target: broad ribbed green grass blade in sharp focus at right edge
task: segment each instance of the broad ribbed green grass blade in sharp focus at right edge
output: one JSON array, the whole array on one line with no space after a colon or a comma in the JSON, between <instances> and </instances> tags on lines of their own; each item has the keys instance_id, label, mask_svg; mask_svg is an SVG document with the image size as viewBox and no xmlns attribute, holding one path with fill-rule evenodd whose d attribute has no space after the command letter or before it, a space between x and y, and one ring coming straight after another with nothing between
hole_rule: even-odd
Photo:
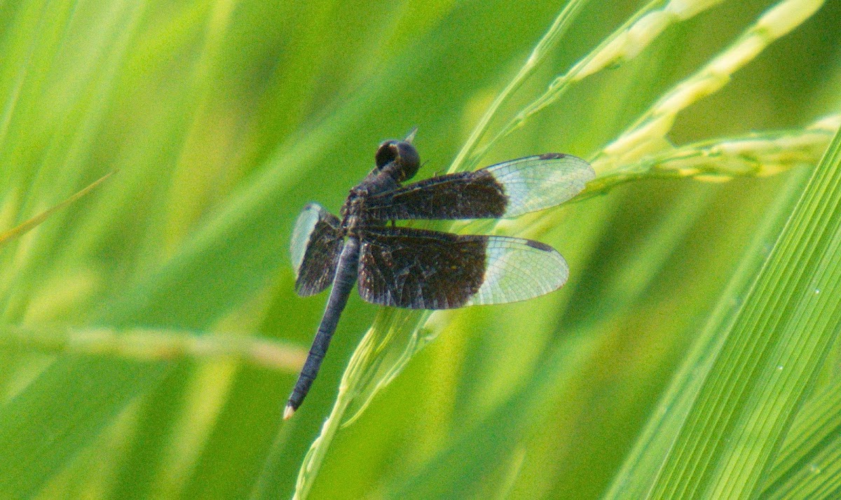
<instances>
[{"instance_id":1,"label":"broad ribbed green grass blade in sharp focus at right edge","mask_svg":"<svg viewBox=\"0 0 841 500\"><path fill-rule=\"evenodd\" d=\"M841 135L812 176L705 377L651 497L751 497L841 321Z\"/></svg>"}]
</instances>

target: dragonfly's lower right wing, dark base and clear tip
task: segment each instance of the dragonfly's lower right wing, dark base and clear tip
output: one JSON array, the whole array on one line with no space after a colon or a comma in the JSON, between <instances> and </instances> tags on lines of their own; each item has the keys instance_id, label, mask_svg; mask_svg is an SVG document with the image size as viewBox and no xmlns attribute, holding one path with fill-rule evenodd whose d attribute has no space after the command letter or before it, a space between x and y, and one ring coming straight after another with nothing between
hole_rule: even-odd
<instances>
[{"instance_id":1,"label":"dragonfly's lower right wing, dark base and clear tip","mask_svg":"<svg viewBox=\"0 0 841 500\"><path fill-rule=\"evenodd\" d=\"M567 276L557 251L528 239L381 228L362 237L359 293L384 306L448 309L537 297Z\"/></svg>"}]
</instances>

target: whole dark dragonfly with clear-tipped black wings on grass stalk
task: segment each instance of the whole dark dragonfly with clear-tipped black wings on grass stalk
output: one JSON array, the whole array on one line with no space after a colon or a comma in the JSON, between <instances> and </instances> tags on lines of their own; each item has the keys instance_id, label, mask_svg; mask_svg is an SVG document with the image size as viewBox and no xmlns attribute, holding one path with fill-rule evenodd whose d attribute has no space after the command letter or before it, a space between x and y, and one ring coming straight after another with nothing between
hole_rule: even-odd
<instances>
[{"instance_id":1,"label":"whole dark dragonfly with clear-tipped black wings on grass stalk","mask_svg":"<svg viewBox=\"0 0 841 500\"><path fill-rule=\"evenodd\" d=\"M538 241L395 221L513 218L554 207L595 178L587 161L548 153L405 184L421 166L414 136L415 130L379 145L373 170L351 189L339 217L309 203L295 222L289 247L295 292L308 297L332 289L284 419L304 402L357 284L368 303L450 309L538 297L569 277L563 256Z\"/></svg>"}]
</instances>

